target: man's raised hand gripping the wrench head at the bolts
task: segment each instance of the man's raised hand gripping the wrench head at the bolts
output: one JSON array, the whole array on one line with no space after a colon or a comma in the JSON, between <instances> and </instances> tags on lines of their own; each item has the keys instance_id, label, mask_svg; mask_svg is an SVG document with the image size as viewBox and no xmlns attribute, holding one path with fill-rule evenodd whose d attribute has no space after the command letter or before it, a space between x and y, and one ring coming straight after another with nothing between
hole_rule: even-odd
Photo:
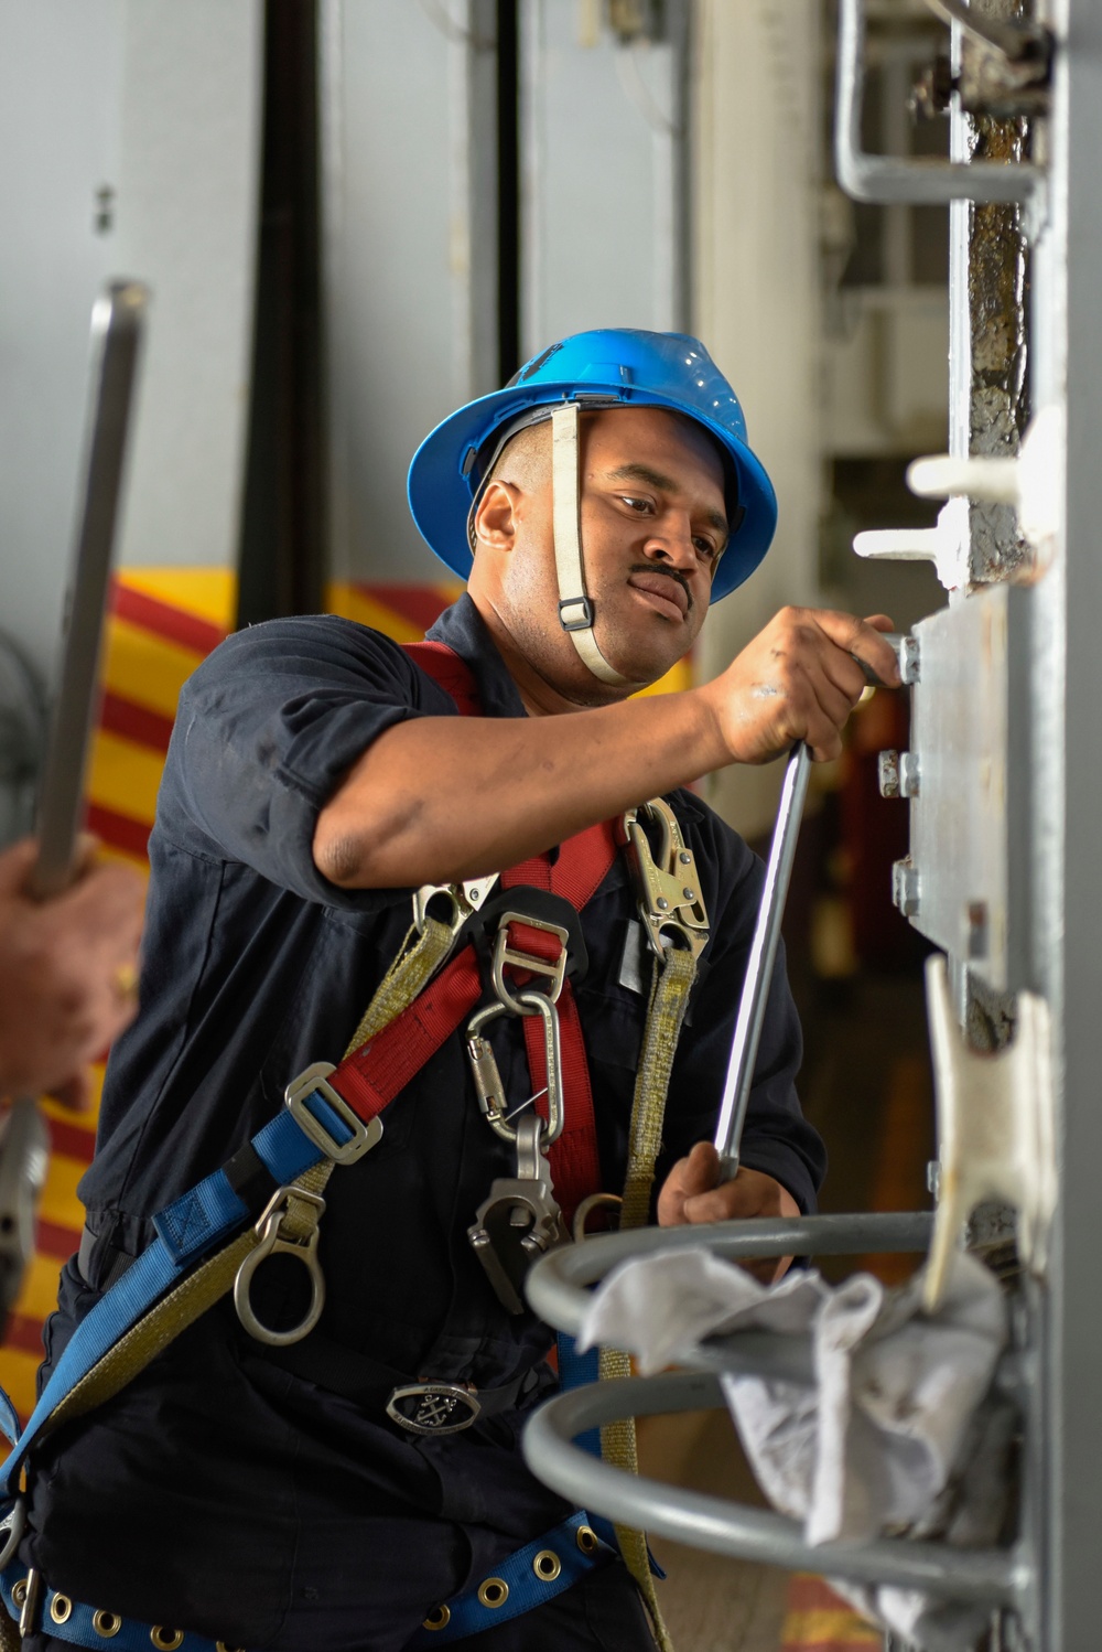
<instances>
[{"instance_id":1,"label":"man's raised hand gripping the wrench head at the bolts","mask_svg":"<svg viewBox=\"0 0 1102 1652\"><path fill-rule=\"evenodd\" d=\"M817 762L841 752L841 729L868 684L888 687L899 664L881 633L886 615L855 620L828 608L782 608L731 666L699 692L736 763L769 763L805 740Z\"/></svg>"}]
</instances>

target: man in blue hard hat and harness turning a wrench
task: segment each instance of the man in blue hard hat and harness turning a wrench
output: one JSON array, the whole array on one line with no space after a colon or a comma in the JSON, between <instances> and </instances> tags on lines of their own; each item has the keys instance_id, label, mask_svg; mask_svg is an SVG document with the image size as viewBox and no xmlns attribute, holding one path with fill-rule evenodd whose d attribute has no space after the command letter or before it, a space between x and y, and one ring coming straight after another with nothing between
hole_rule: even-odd
<instances>
[{"instance_id":1,"label":"man in blue hard hat and harness turning a wrench","mask_svg":"<svg viewBox=\"0 0 1102 1652\"><path fill-rule=\"evenodd\" d=\"M409 502L469 580L424 644L272 621L180 700L142 1008L48 1426L10 1459L0 1591L31 1652L666 1645L642 1536L523 1464L556 1383L526 1270L615 1206L815 1203L784 961L719 1181L762 869L685 788L795 740L835 757L863 664L897 681L888 621L785 610L716 681L632 699L775 525L681 334L544 350L432 431Z\"/></svg>"}]
</instances>

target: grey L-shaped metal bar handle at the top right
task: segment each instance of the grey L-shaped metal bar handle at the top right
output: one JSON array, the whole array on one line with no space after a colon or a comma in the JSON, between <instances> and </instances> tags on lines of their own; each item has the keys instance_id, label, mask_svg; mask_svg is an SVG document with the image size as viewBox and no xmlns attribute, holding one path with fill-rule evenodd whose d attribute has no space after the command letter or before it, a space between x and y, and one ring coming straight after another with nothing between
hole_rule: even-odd
<instances>
[{"instance_id":1,"label":"grey L-shaped metal bar handle at the top right","mask_svg":"<svg viewBox=\"0 0 1102 1652\"><path fill-rule=\"evenodd\" d=\"M855 202L942 206L947 202L1008 202L1029 206L1039 221L1044 172L1029 162L904 160L869 155L861 149L864 88L864 0L841 0L838 15L838 78L835 170ZM1036 226L1036 225L1034 225Z\"/></svg>"}]
</instances>

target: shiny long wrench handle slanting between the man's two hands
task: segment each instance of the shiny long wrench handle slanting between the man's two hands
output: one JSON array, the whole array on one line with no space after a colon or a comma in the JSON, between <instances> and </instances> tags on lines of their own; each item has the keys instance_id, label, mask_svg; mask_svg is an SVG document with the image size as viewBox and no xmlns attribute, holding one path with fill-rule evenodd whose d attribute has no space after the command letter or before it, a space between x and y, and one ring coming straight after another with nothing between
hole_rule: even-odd
<instances>
[{"instance_id":1,"label":"shiny long wrench handle slanting between the man's two hands","mask_svg":"<svg viewBox=\"0 0 1102 1652\"><path fill-rule=\"evenodd\" d=\"M716 1150L719 1153L719 1176L723 1181L731 1181L739 1170L742 1125L746 1123L746 1108L751 1100L754 1062L757 1061L757 1046L762 1037L765 1004L769 1003L769 988L777 958L777 942L780 940L780 920L789 894L789 879L792 877L795 844L800 836L800 819L803 816L803 800L807 798L812 753L800 742L792 748L784 785L780 786L777 824L774 826L769 864L765 866L765 887L762 889L762 904L757 910L754 942L739 999L739 1016L734 1023L734 1036L731 1039L728 1077L723 1085L723 1102L719 1104Z\"/></svg>"}]
</instances>

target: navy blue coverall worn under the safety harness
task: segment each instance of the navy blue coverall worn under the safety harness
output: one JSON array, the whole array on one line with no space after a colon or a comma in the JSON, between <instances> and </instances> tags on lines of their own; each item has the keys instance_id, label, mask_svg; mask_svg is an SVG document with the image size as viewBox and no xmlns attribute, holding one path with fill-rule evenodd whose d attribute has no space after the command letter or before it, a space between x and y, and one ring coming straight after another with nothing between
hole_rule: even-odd
<instances>
[{"instance_id":1,"label":"navy blue coverall worn under the safety harness","mask_svg":"<svg viewBox=\"0 0 1102 1652\"><path fill-rule=\"evenodd\" d=\"M485 715L525 715L469 598L431 636L472 667ZM150 1241L150 1216L274 1117L304 1067L340 1061L406 935L411 892L335 889L313 866L315 821L370 742L421 715L455 707L394 643L330 616L238 633L186 684L150 838L140 1014L107 1069L81 1183L89 1231L81 1264L63 1272L48 1366ZM711 942L673 1067L660 1178L711 1137L762 882L761 862L698 798L671 803ZM620 856L584 910L577 985L610 1191L647 1006L620 981L633 912ZM516 1105L531 1090L520 1024L502 1018L493 1036ZM742 1160L808 1211L825 1160L795 1097L798 1061L779 965ZM36 1450L25 1558L78 1601L231 1647L399 1652L431 1607L569 1513L516 1449L551 1381L551 1335L505 1312L465 1236L493 1176L513 1173L454 1036L391 1104L379 1146L328 1183L318 1328L276 1350L244 1333L231 1303L211 1310ZM264 1317L290 1289L274 1282ZM419 1439L384 1406L396 1381L422 1378L513 1383L516 1403ZM648 1637L617 1559L465 1644L627 1652Z\"/></svg>"}]
</instances>

